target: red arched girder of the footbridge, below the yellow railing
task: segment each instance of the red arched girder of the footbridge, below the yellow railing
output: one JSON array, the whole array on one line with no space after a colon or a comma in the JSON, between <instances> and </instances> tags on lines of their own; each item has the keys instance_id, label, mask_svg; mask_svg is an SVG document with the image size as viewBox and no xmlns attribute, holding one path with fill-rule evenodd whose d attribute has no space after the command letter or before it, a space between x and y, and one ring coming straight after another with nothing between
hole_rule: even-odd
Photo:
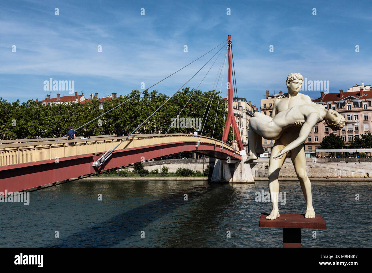
<instances>
[{"instance_id":1,"label":"red arched girder of the footbridge, below the yellow railing","mask_svg":"<svg viewBox=\"0 0 372 273\"><path fill-rule=\"evenodd\" d=\"M218 159L241 159L241 156L228 149L222 149L210 143L200 143L198 149L195 142L174 142L161 145L150 145L140 148L117 150L112 153L108 162L98 169L92 163L103 153L64 157L55 160L23 163L0 167L0 192L24 191L51 183L89 175L97 171L121 168L141 161L151 160L182 152L199 152Z\"/></svg>"}]
</instances>

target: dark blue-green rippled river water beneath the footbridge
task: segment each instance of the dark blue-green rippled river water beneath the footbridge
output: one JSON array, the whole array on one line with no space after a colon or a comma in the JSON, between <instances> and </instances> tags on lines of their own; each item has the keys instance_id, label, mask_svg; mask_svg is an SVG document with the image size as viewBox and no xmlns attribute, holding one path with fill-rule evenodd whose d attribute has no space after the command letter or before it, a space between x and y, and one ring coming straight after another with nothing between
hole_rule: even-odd
<instances>
[{"instance_id":1,"label":"dark blue-green rippled river water beneath the footbridge","mask_svg":"<svg viewBox=\"0 0 372 273\"><path fill-rule=\"evenodd\" d=\"M259 227L261 212L272 208L270 202L256 202L256 192L262 190L269 191L267 182L65 183L31 192L29 205L1 202L0 243L3 247L282 247L280 228ZM299 182L281 181L280 192L285 192L285 204L279 205L279 212L305 213ZM302 247L372 247L371 192L368 182L312 182L314 209L327 229L315 230L316 234L302 229Z\"/></svg>"}]
</instances>

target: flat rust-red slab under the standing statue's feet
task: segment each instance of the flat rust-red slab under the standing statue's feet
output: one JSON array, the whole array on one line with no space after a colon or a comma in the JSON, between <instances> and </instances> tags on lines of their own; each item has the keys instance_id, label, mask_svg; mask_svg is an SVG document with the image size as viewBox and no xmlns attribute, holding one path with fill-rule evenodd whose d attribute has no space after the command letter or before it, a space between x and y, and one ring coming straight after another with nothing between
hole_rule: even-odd
<instances>
[{"instance_id":1,"label":"flat rust-red slab under the standing statue's feet","mask_svg":"<svg viewBox=\"0 0 372 273\"><path fill-rule=\"evenodd\" d=\"M320 214L315 214L315 218L305 218L305 214L280 213L275 220L267 220L268 215L261 213L260 227L326 229Z\"/></svg>"}]
</instances>

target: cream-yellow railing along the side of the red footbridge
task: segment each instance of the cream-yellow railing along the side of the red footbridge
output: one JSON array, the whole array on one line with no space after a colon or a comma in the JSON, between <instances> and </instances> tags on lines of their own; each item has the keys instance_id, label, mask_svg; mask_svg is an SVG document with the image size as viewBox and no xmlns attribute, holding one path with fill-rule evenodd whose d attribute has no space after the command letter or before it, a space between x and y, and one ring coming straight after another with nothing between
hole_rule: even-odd
<instances>
[{"instance_id":1,"label":"cream-yellow railing along the side of the red footbridge","mask_svg":"<svg viewBox=\"0 0 372 273\"><path fill-rule=\"evenodd\" d=\"M144 147L150 145L174 142L195 142L200 136L191 134L137 134L128 137L116 150ZM76 140L52 140L19 143L0 143L0 166L37 162L42 160L59 159L69 156L88 155L107 152L116 147L125 137L98 137ZM7 141L9 142L9 141ZM73 144L69 144L73 143ZM201 143L211 143L216 146L234 151L233 147L211 137L201 137ZM238 151L235 153L240 155Z\"/></svg>"}]
</instances>

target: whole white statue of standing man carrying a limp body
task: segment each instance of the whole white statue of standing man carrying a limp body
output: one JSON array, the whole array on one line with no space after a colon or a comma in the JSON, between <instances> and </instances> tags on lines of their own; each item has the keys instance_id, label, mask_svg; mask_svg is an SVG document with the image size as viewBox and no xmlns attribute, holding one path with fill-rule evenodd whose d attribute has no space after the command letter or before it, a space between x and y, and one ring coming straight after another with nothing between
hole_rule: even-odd
<instances>
[{"instance_id":1,"label":"whole white statue of standing man carrying a limp body","mask_svg":"<svg viewBox=\"0 0 372 273\"><path fill-rule=\"evenodd\" d=\"M305 196L307 204L305 218L315 218L315 211L311 201L311 183L306 173L305 151L302 143L305 141L304 136L307 137L309 135L312 126L318 121L325 119L326 122L330 124L331 128L334 126L338 127L342 123L342 119L336 111L325 110L323 105L320 106L313 103L308 95L298 92L301 89L303 79L304 77L299 73L289 74L286 80L288 93L274 101L272 118L260 113L255 113L254 117L250 120L251 123L254 118L257 117L257 121L259 119L259 122L265 122L266 128L260 125L257 126L256 124L256 134L251 132L251 130L248 131L249 142L251 143L251 141L253 141L254 144L252 143L252 146L250 144L252 155L250 154L246 161L247 163L255 159L255 157L257 158L257 154L263 153L261 137L258 135L260 134L260 130L263 132L262 135L266 134L267 130L267 134L271 134L270 137L276 139L271 150L268 172L269 189L273 204L270 215L266 217L266 219L269 220L274 220L280 216L278 198L275 198L275 196L279 194L278 177L280 168L282 168L285 160L284 154L291 157L302 192ZM299 105L304 106L299 107ZM324 109L322 109L322 107ZM291 108L294 108L293 111ZM283 114L279 116L282 112ZM277 115L280 118L278 117L278 119L276 119L275 117ZM253 121L253 123L255 122ZM291 123L293 126L290 126ZM302 123L304 123L305 126L304 130L301 128ZM250 129L253 127L254 124L250 124ZM251 135L253 135L252 140Z\"/></svg>"}]
</instances>

